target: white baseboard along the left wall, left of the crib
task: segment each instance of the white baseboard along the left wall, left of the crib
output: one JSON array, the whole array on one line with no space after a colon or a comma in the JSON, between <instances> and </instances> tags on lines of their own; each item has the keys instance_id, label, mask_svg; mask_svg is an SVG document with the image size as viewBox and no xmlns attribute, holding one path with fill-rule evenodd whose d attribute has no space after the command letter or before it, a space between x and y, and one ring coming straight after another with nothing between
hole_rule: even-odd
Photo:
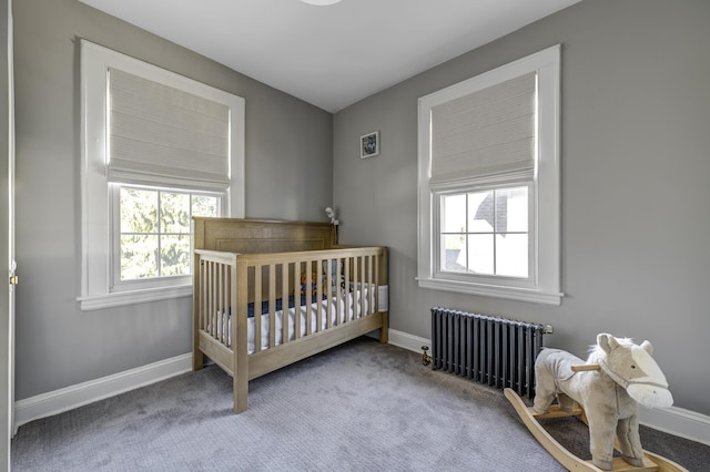
<instances>
[{"instance_id":1,"label":"white baseboard along the left wall, left of the crib","mask_svg":"<svg viewBox=\"0 0 710 472\"><path fill-rule=\"evenodd\" d=\"M74 408L114 397L191 370L192 353L185 353L113 376L16 401L13 431L17 433L18 428L30 421L73 410Z\"/></svg>"}]
</instances>

